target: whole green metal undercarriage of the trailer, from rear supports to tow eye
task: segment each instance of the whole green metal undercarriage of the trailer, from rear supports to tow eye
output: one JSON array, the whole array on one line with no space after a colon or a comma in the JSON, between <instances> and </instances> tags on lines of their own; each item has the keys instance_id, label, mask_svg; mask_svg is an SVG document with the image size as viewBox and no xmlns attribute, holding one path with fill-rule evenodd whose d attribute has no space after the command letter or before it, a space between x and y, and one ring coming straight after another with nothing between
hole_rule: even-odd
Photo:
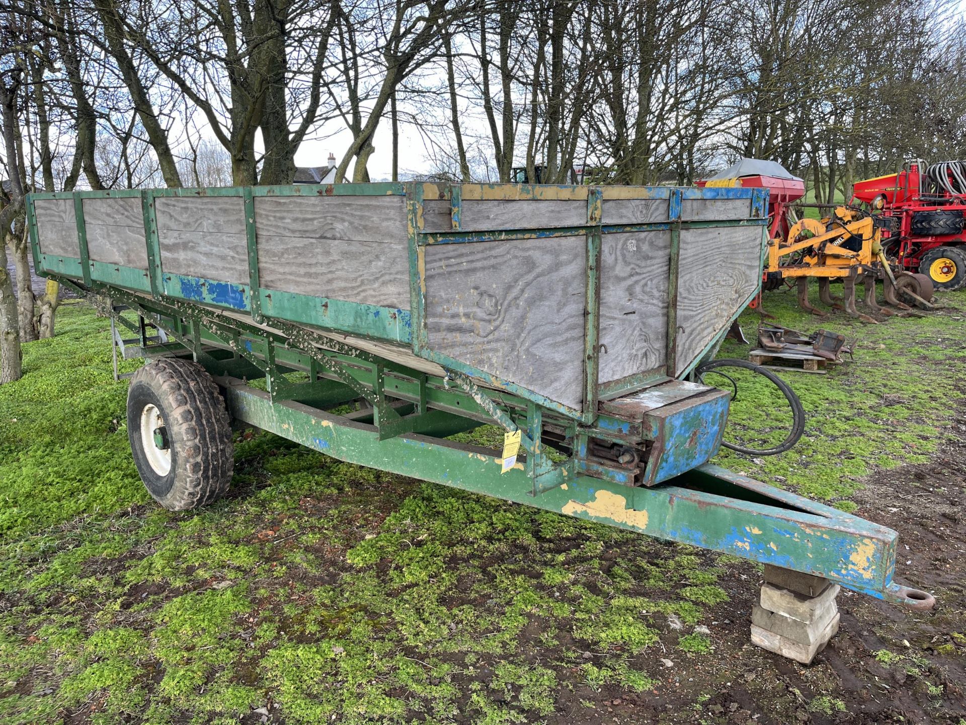
<instances>
[{"instance_id":1,"label":"whole green metal undercarriage of the trailer, from rear supports to tow eye","mask_svg":"<svg viewBox=\"0 0 966 725\"><path fill-rule=\"evenodd\" d=\"M235 419L341 460L805 571L916 608L931 603L893 582L897 536L887 528L715 466L645 487L587 455L592 439L657 440L660 420L601 414L586 426L524 396L482 390L457 371L427 374L293 323L265 328L191 301L68 283L109 295L164 330L178 344L145 352L203 364ZM104 311L117 316L112 306ZM246 382L260 378L265 391ZM326 410L360 398L371 410ZM523 430L525 452L506 473L498 451L446 440L486 422ZM671 435L683 439L679 433ZM550 434L570 446L563 463L548 455Z\"/></svg>"}]
</instances>

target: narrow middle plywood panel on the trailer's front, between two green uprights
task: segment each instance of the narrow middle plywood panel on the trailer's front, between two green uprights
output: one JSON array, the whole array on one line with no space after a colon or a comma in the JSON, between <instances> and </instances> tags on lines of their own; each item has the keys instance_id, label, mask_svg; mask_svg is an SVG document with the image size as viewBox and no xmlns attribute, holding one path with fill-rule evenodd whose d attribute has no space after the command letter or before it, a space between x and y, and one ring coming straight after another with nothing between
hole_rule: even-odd
<instances>
[{"instance_id":1,"label":"narrow middle plywood panel on the trailer's front, between two green uprights","mask_svg":"<svg viewBox=\"0 0 966 725\"><path fill-rule=\"evenodd\" d=\"M668 362L669 266L669 231L601 239L601 383Z\"/></svg>"}]
</instances>

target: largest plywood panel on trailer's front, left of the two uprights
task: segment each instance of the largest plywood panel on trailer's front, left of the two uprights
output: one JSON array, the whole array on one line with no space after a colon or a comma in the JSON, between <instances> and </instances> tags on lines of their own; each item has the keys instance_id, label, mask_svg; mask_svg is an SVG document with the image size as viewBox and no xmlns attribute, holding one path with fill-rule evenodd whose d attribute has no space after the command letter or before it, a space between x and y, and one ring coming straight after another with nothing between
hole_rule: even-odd
<instances>
[{"instance_id":1,"label":"largest plywood panel on trailer's front, left of the two uprights","mask_svg":"<svg viewBox=\"0 0 966 725\"><path fill-rule=\"evenodd\" d=\"M584 237L426 247L430 349L574 408L585 294Z\"/></svg>"}]
</instances>

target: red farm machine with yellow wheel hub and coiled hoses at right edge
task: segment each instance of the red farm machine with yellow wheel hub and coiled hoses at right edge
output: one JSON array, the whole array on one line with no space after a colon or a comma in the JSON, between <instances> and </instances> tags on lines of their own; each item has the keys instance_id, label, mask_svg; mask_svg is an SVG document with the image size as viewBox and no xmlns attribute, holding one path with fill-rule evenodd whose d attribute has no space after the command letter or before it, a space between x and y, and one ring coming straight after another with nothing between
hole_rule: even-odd
<instances>
[{"instance_id":1,"label":"red farm machine with yellow wheel hub and coiled hoses at right edge","mask_svg":"<svg viewBox=\"0 0 966 725\"><path fill-rule=\"evenodd\" d=\"M910 161L858 182L852 200L891 220L882 246L902 269L928 276L936 289L966 287L966 161Z\"/></svg>"}]
</instances>

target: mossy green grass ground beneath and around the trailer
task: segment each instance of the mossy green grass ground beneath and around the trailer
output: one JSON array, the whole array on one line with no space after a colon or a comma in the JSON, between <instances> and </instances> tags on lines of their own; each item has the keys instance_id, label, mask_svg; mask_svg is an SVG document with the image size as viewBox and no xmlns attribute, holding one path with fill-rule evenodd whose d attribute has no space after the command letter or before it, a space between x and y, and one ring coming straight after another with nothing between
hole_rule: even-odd
<instances>
[{"instance_id":1,"label":"mossy green grass ground beneath and around the trailer","mask_svg":"<svg viewBox=\"0 0 966 725\"><path fill-rule=\"evenodd\" d=\"M819 321L793 300L765 304L781 324L859 336L855 361L783 373L809 414L795 449L716 462L853 510L873 473L950 444L966 393L966 293L878 326ZM757 320L741 319L750 338ZM225 500L156 507L129 455L127 383L112 380L107 330L86 305L66 305L57 337L27 344L23 379L0 388L0 721L841 719L844 685L820 667L771 696L745 677L789 663L747 646L758 570L732 557L267 433L239 433ZM722 354L747 351L728 342ZM781 422L765 395L742 389L731 434ZM916 666L933 688L917 707L934 702L955 723L941 668ZM732 681L747 695L740 709L715 705Z\"/></svg>"}]
</instances>

